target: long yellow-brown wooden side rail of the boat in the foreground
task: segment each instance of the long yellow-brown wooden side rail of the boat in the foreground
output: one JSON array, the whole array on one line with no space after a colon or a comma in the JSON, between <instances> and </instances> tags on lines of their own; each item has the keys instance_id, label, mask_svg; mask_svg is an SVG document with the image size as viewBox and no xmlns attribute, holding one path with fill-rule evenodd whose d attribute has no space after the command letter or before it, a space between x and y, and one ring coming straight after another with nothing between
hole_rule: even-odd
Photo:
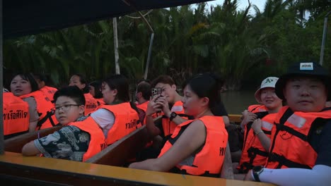
<instances>
[{"instance_id":1,"label":"long yellow-brown wooden side rail of the boat in the foreground","mask_svg":"<svg viewBox=\"0 0 331 186\"><path fill-rule=\"evenodd\" d=\"M11 152L0 155L0 175L44 180L69 185L219 185L272 186L269 183L207 178L161 173L132 168L22 156Z\"/></svg>"}]
</instances>

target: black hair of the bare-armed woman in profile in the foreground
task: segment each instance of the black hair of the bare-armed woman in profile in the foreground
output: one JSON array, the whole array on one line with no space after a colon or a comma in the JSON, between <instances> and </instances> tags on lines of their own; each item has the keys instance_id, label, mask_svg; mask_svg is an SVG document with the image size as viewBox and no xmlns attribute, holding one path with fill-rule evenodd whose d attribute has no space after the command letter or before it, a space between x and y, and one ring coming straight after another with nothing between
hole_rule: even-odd
<instances>
[{"instance_id":1,"label":"black hair of the bare-armed woman in profile in the foreground","mask_svg":"<svg viewBox=\"0 0 331 186\"><path fill-rule=\"evenodd\" d=\"M214 108L216 104L221 102L219 90L223 86L223 80L218 75L211 73L194 75L183 84L182 89L187 85L190 85L192 92L197 94L199 98L209 98L209 109Z\"/></svg>"}]
</instances>

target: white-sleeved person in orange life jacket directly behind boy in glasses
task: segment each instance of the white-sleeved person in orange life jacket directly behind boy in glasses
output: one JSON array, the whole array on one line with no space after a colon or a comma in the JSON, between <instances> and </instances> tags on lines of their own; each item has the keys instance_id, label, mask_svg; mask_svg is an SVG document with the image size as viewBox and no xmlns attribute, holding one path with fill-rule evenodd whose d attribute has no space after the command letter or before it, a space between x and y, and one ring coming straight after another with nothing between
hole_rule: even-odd
<instances>
[{"instance_id":1,"label":"white-sleeved person in orange life jacket directly behind boy in glasses","mask_svg":"<svg viewBox=\"0 0 331 186\"><path fill-rule=\"evenodd\" d=\"M124 75L110 75L102 82L105 104L91 113L91 117L103 128L110 145L141 127L144 111L140 111L129 99L129 82Z\"/></svg>"}]
</instances>

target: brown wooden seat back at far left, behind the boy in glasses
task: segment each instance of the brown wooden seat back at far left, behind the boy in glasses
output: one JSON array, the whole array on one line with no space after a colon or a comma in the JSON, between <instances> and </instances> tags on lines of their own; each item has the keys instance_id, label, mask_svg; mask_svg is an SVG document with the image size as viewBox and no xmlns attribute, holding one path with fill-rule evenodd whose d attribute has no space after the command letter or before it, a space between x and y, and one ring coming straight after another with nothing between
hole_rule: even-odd
<instances>
[{"instance_id":1,"label":"brown wooden seat back at far left, behind the boy in glasses","mask_svg":"<svg viewBox=\"0 0 331 186\"><path fill-rule=\"evenodd\" d=\"M55 126L53 128L45 128L34 132L28 132L23 135L18 135L16 137L11 137L4 141L4 149L5 151L21 153L23 146L28 142L35 140L38 137L50 135L62 127L63 126Z\"/></svg>"}]
</instances>

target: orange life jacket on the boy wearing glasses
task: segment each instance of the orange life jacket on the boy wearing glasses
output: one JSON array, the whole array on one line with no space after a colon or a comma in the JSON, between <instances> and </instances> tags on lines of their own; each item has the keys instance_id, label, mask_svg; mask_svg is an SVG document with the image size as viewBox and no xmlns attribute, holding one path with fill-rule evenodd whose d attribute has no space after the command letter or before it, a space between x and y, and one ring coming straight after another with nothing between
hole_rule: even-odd
<instances>
[{"instance_id":1,"label":"orange life jacket on the boy wearing glasses","mask_svg":"<svg viewBox=\"0 0 331 186\"><path fill-rule=\"evenodd\" d=\"M69 123L69 125L76 126L77 128L88 132L90 134L90 142L88 143L88 150L83 155L83 161L90 159L95 154L107 147L105 142L105 135L103 135L103 130L99 127L95 120L91 116L88 116L85 120L76 121Z\"/></svg>"}]
</instances>

